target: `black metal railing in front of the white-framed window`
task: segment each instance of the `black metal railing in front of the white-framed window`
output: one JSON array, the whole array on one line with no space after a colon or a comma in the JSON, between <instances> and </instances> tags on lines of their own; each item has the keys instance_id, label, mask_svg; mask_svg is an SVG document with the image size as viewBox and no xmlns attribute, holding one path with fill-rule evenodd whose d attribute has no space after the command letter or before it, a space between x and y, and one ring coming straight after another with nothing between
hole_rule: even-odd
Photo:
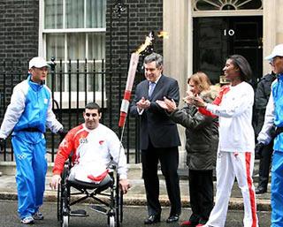
<instances>
[{"instance_id":1,"label":"black metal railing in front of the white-framed window","mask_svg":"<svg viewBox=\"0 0 283 227\"><path fill-rule=\"evenodd\" d=\"M19 64L19 65L18 65ZM2 124L4 112L10 103L12 88L23 79L27 79L27 67L19 70L20 66L27 65L18 63L4 63L0 75L0 123ZM11 67L12 66L12 67ZM25 68L25 67L22 67ZM46 84L50 87L53 98L53 110L57 119L67 130L84 122L82 112L88 102L97 102L103 111L101 122L111 127L119 136L118 128L119 107L122 100L121 94L125 89L126 81L122 81L121 74L126 72L106 72L104 60L79 61L62 60L50 61L50 72ZM115 79L113 79L115 77ZM111 83L109 83L111 79ZM113 87L119 92L115 94ZM110 92L111 91L111 92ZM111 101L111 102L110 102ZM114 116L114 117L113 117ZM116 117L115 117L116 116ZM140 163L140 150L138 148L139 121L127 117L123 146L126 150L127 163ZM60 142L58 135L50 131L45 134L47 140L47 153L49 161L54 162L57 147ZM0 155L0 161L13 161L11 136L6 140L4 153Z\"/></svg>"}]
</instances>

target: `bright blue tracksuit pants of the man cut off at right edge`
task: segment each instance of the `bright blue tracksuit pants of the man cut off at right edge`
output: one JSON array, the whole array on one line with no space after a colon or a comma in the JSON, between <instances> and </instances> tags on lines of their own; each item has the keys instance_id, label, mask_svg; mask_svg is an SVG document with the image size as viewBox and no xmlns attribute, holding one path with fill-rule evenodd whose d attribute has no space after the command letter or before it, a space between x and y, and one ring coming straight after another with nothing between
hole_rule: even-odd
<instances>
[{"instance_id":1,"label":"bright blue tracksuit pants of the man cut off at right edge","mask_svg":"<svg viewBox=\"0 0 283 227\"><path fill-rule=\"evenodd\" d=\"M272 227L283 227L283 152L272 157Z\"/></svg>"}]
</instances>

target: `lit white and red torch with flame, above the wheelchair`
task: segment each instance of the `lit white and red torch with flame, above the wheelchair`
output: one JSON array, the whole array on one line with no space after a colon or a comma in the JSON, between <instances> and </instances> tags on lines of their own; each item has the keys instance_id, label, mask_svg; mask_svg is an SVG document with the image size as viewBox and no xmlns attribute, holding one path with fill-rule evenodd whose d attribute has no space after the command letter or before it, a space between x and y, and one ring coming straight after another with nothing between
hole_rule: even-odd
<instances>
[{"instance_id":1,"label":"lit white and red torch with flame, above the wheelchair","mask_svg":"<svg viewBox=\"0 0 283 227\"><path fill-rule=\"evenodd\" d=\"M126 89L124 92L124 98L120 108L119 127L124 127L126 122L127 110L129 109L129 105L130 105L130 98L134 84L134 77L135 77L136 68L139 63L140 53L145 49L147 49L152 44L153 39L154 39L153 33L151 32L149 36L146 37L146 40L144 43L142 43L141 47L131 55L129 70L127 72Z\"/></svg>"}]
</instances>

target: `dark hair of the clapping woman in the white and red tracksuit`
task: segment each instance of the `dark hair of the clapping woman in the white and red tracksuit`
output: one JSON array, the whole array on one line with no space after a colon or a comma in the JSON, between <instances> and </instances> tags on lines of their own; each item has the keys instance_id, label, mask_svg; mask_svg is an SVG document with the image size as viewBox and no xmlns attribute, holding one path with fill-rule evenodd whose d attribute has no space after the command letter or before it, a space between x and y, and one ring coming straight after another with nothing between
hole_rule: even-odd
<instances>
[{"instance_id":1,"label":"dark hair of the clapping woman in the white and red tracksuit","mask_svg":"<svg viewBox=\"0 0 283 227\"><path fill-rule=\"evenodd\" d=\"M245 57L241 55L232 55L227 59L231 59L233 64L240 69L241 81L249 81L252 78L252 71L249 65L249 62Z\"/></svg>"}]
</instances>

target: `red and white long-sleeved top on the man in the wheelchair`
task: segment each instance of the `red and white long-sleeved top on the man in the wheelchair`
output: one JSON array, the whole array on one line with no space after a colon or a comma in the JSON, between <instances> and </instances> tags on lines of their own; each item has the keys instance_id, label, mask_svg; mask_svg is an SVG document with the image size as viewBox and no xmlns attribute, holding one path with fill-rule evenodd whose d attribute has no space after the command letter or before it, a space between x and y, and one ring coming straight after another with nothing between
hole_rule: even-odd
<instances>
[{"instance_id":1,"label":"red and white long-sleeved top on the man in the wheelchair","mask_svg":"<svg viewBox=\"0 0 283 227\"><path fill-rule=\"evenodd\" d=\"M97 167L101 169L102 166L106 170L112 159L118 166L119 178L126 178L124 148L115 132L105 125L99 124L96 129L89 130L82 124L68 132L58 148L53 174L61 174L71 152L76 166L93 167L93 170L97 170Z\"/></svg>"}]
</instances>

